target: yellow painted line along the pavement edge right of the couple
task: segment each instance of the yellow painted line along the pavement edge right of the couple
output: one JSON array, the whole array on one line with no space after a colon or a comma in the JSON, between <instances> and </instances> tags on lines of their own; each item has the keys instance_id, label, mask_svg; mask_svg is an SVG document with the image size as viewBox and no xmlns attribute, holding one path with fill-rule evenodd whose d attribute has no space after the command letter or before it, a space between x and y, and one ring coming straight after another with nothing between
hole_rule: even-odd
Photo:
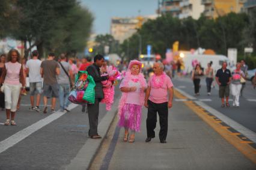
<instances>
[{"instance_id":1,"label":"yellow painted line along the pavement edge right of the couple","mask_svg":"<svg viewBox=\"0 0 256 170\"><path fill-rule=\"evenodd\" d=\"M179 99L187 99L187 97L180 94L177 90L174 89L174 95L175 97ZM198 107L198 105L195 105L193 101L184 101L185 105L188 106L192 111L194 111L195 114L198 115L202 120L204 120L209 126L211 126L216 132L218 132L224 139L226 139L230 144L232 144L234 147L237 148L241 153L243 153L248 159L250 159L252 162L256 163L256 150L251 147L253 142L251 141L243 141L238 136L234 135L234 133L231 133L228 129L230 127L222 126L220 124L222 121L216 121L214 118L215 116L210 116L206 114L203 108ZM240 135L240 133L239 133Z\"/></svg>"}]
</instances>

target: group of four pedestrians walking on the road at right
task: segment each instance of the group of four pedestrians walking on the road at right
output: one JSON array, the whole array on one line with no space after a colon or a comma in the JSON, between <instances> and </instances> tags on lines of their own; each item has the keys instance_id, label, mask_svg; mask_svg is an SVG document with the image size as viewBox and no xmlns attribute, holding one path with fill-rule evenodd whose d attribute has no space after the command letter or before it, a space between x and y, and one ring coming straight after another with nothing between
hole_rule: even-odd
<instances>
[{"instance_id":1,"label":"group of four pedestrians walking on the road at right","mask_svg":"<svg viewBox=\"0 0 256 170\"><path fill-rule=\"evenodd\" d=\"M230 92L233 96L233 106L239 107L239 98L243 94L243 90L246 85L246 74L248 71L248 65L245 64L245 61L242 59L240 62L237 62L236 68L233 71L227 68L228 63L223 62L222 68L216 71L212 68L212 62L207 64L207 68L204 69L201 67L200 63L196 64L194 70L192 71L192 80L194 83L195 96L200 95L200 81L203 76L206 76L206 87L207 95L211 95L211 90L213 83L219 85L219 97L221 98L221 107L230 107L229 97Z\"/></svg>"}]
</instances>

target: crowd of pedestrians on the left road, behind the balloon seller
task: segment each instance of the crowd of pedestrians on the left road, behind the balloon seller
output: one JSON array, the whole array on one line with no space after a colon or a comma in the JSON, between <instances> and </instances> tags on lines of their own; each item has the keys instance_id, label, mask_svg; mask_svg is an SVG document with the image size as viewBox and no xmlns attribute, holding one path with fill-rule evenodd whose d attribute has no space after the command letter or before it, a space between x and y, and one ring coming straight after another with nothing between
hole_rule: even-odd
<instances>
[{"instance_id":1,"label":"crowd of pedestrians on the left road, behind the balloon seller","mask_svg":"<svg viewBox=\"0 0 256 170\"><path fill-rule=\"evenodd\" d=\"M64 53L61 53L58 59L54 53L49 53L44 61L39 59L37 50L32 51L28 61L21 58L16 49L11 49L8 54L3 53L0 56L0 108L6 111L5 125L16 125L15 114L19 110L22 95L26 95L26 87L29 87L31 102L29 111L43 111L46 114L49 110L47 100L51 99L50 112L54 113L58 98L61 111L69 112L70 88L78 71L85 70L91 64L91 58L83 58L78 63L79 65L75 64L74 58L67 60ZM26 85L27 75L29 85Z\"/></svg>"}]
</instances>

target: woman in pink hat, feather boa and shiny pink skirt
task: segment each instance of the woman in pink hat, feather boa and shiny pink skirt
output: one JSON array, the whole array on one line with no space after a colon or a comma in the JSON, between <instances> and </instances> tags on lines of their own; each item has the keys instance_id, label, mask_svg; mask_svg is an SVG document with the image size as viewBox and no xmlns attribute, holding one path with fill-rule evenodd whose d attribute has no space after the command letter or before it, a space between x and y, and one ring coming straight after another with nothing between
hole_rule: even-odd
<instances>
[{"instance_id":1,"label":"woman in pink hat, feather boa and shiny pink skirt","mask_svg":"<svg viewBox=\"0 0 256 170\"><path fill-rule=\"evenodd\" d=\"M145 88L147 83L141 73L142 63L137 60L130 61L128 70L120 84L122 97L118 106L119 122L118 126L124 127L124 141L135 141L135 132L139 132L141 127L141 112L144 105Z\"/></svg>"}]
</instances>

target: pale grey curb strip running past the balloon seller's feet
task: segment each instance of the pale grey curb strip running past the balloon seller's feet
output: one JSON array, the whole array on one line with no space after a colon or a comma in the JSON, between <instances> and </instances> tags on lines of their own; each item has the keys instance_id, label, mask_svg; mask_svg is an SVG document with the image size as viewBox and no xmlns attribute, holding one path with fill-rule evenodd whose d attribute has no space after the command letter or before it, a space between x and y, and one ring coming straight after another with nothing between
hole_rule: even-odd
<instances>
[{"instance_id":1,"label":"pale grey curb strip running past the balloon seller's feet","mask_svg":"<svg viewBox=\"0 0 256 170\"><path fill-rule=\"evenodd\" d=\"M117 97L114 105L112 105L111 111L108 111L105 117L103 117L99 123L98 132L102 136L102 139L88 138L87 142L85 142L84 146L81 148L81 150L79 150L78 154L76 154L76 157L71 160L69 165L66 166L66 170L85 170L90 168L97 151L106 138L106 134L108 133L109 127L111 126L115 115L117 115L120 97L121 95Z\"/></svg>"}]
</instances>

